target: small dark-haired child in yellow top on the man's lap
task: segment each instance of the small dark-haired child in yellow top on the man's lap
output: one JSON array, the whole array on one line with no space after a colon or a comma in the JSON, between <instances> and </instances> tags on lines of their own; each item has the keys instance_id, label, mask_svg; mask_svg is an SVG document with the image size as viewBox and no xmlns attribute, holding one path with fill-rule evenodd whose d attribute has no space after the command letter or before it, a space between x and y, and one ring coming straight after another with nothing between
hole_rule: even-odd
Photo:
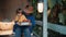
<instances>
[{"instance_id":1,"label":"small dark-haired child in yellow top on the man's lap","mask_svg":"<svg viewBox=\"0 0 66 37\"><path fill-rule=\"evenodd\" d=\"M28 22L28 21L29 21L29 20L25 17L25 15L22 14L22 10L19 9L19 10L16 11L15 22L22 23L22 22Z\"/></svg>"}]
</instances>

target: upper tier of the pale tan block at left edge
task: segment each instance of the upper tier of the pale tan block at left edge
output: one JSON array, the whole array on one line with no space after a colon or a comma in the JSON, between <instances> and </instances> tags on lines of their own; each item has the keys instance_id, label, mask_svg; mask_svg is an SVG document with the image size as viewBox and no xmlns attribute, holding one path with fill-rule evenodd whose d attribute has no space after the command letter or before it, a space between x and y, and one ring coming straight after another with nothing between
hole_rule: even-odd
<instances>
[{"instance_id":1,"label":"upper tier of the pale tan block at left edge","mask_svg":"<svg viewBox=\"0 0 66 37\"><path fill-rule=\"evenodd\" d=\"M13 29L13 22L0 22L0 30Z\"/></svg>"}]
</instances>

